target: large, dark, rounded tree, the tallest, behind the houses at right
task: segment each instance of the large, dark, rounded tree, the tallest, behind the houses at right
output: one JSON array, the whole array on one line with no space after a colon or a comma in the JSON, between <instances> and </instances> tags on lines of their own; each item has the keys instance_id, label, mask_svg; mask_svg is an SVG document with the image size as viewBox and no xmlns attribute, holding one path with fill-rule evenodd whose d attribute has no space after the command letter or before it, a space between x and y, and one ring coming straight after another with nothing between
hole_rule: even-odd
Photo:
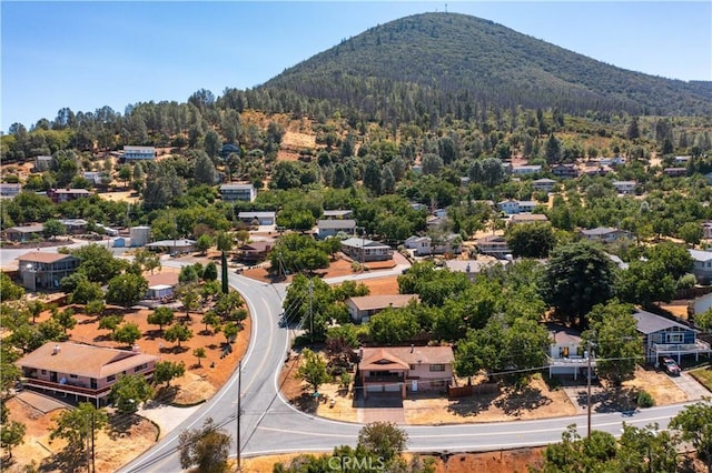
<instances>
[{"instance_id":1,"label":"large, dark, rounded tree, the tallest, behind the houses at right","mask_svg":"<svg viewBox=\"0 0 712 473\"><path fill-rule=\"evenodd\" d=\"M560 316L586 328L591 309L613 296L614 278L613 262L600 248L589 242L565 244L552 252L542 296Z\"/></svg>"}]
</instances>

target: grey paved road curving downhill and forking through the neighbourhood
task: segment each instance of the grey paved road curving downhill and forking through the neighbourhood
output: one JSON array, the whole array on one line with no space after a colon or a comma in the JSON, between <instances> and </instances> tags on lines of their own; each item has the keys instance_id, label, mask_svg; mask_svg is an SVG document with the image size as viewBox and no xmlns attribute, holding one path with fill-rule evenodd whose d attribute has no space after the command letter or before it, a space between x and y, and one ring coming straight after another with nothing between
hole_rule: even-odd
<instances>
[{"instance_id":1,"label":"grey paved road curving downhill and forking through the neighbourhood","mask_svg":"<svg viewBox=\"0 0 712 473\"><path fill-rule=\"evenodd\" d=\"M179 264L177 262L170 262ZM174 265L174 264L168 265ZM399 273L400 268L350 276L376 278ZM230 285L245 298L251 315L250 345L243 360L241 379L241 453L258 456L274 453L332 451L342 444L355 445L360 424L329 421L297 411L279 394L280 369L288 351L289 329L278 326L285 284L267 284L229 273ZM120 472L180 471L177 439L186 429L199 427L207 417L233 435L236 454L236 412L238 373L182 424ZM619 435L622 422L636 426L656 422L668 425L670 417L685 404L646 409L633 414L620 412L593 414L592 427ZM408 450L414 452L490 451L517 446L544 445L561 441L566 426L575 423L585 434L586 416L566 416L537 421L514 421L482 424L437 426L404 426L408 433Z\"/></svg>"}]
</instances>

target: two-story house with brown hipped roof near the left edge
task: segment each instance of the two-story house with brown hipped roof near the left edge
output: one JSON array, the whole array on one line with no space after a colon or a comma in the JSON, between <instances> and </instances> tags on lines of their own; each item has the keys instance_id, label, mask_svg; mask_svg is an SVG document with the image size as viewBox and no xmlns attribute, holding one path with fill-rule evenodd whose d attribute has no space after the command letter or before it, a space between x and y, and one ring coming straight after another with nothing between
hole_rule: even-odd
<instances>
[{"instance_id":1,"label":"two-story house with brown hipped roof near the left edge","mask_svg":"<svg viewBox=\"0 0 712 473\"><path fill-rule=\"evenodd\" d=\"M62 278L79 268L79 259L71 254L30 251L18 258L22 286L30 291L59 289Z\"/></svg>"}]
</instances>

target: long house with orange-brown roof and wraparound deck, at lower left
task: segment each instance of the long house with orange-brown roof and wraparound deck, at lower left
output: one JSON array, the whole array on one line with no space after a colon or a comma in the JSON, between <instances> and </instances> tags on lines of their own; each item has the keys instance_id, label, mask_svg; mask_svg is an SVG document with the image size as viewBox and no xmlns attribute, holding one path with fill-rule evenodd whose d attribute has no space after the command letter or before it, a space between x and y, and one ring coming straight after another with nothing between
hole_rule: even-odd
<instances>
[{"instance_id":1,"label":"long house with orange-brown roof and wraparound deck, at lower left","mask_svg":"<svg viewBox=\"0 0 712 473\"><path fill-rule=\"evenodd\" d=\"M158 356L138 351L107 349L70 342L47 342L22 356L22 385L73 394L99 406L121 375L150 379Z\"/></svg>"}]
</instances>

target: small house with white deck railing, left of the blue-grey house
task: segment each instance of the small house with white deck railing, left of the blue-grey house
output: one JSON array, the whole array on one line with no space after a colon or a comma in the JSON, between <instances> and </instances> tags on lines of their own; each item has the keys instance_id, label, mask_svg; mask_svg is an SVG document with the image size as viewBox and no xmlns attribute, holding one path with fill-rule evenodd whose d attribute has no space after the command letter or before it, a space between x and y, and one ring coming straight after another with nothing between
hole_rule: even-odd
<instances>
[{"instance_id":1,"label":"small house with white deck railing, left of the blue-grey house","mask_svg":"<svg viewBox=\"0 0 712 473\"><path fill-rule=\"evenodd\" d=\"M547 329L551 338L546 355L548 378L557 374L572 374L574 380L587 376L589 362L594 369L596 361L593 356L589 360L589 351L582 344L581 333L557 324L548 324Z\"/></svg>"}]
</instances>

